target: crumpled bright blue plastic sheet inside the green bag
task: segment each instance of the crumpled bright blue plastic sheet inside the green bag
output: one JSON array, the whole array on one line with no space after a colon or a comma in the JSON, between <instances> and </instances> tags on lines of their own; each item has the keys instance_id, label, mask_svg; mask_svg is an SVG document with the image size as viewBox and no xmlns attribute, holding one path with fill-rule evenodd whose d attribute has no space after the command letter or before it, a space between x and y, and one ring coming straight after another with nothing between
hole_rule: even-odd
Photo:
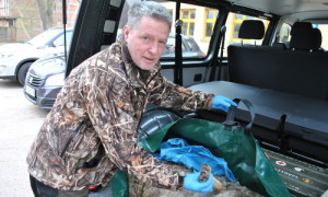
<instances>
[{"instance_id":1,"label":"crumpled bright blue plastic sheet inside the green bag","mask_svg":"<svg viewBox=\"0 0 328 197\"><path fill-rule=\"evenodd\" d=\"M172 138L166 142L162 142L160 150L161 153L156 154L160 160L179 163L198 172L201 165L207 163L212 169L213 175L225 175L229 181L236 182L225 160L214 157L202 146L189 146L184 139Z\"/></svg>"}]
</instances>

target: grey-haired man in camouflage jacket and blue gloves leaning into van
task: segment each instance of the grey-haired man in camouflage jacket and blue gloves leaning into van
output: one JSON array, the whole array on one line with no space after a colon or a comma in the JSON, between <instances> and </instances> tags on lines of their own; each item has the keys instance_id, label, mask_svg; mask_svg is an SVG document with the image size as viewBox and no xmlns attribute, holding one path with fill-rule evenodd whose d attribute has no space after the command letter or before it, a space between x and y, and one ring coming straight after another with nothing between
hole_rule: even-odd
<instances>
[{"instance_id":1,"label":"grey-haired man in camouflage jacket and blue gloves leaning into van","mask_svg":"<svg viewBox=\"0 0 328 197\"><path fill-rule=\"evenodd\" d=\"M87 196L89 186L105 186L118 169L155 187L180 189L184 182L192 183L195 176L180 176L137 144L147 103L190 112L236 104L161 76L159 59L171 22L160 3L133 4L122 38L72 70L27 155L36 196ZM212 183L191 189L206 192L204 185Z\"/></svg>"}]
</instances>

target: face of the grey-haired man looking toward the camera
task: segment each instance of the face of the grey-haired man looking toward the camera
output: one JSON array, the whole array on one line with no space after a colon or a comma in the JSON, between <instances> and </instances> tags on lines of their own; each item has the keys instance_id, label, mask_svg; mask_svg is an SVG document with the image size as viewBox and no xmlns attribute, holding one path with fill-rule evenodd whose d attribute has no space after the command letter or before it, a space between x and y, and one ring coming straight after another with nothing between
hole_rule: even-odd
<instances>
[{"instance_id":1,"label":"face of the grey-haired man looking toward the camera","mask_svg":"<svg viewBox=\"0 0 328 197\"><path fill-rule=\"evenodd\" d=\"M161 58L169 34L164 21L143 16L132 30L124 28L125 40L133 62L143 70L151 70Z\"/></svg>"}]
</instances>

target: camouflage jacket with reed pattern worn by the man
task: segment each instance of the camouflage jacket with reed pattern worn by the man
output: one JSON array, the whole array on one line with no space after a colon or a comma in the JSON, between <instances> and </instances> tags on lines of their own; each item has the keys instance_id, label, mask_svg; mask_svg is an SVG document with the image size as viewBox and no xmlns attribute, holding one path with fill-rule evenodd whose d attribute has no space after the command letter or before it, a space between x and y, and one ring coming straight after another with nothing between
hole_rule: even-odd
<instances>
[{"instance_id":1,"label":"camouflage jacket with reed pattern worn by the man","mask_svg":"<svg viewBox=\"0 0 328 197\"><path fill-rule=\"evenodd\" d=\"M213 95L173 84L159 70L160 62L141 80L120 42L73 69L31 147L30 174L55 188L80 190L106 185L120 169L156 187L180 188L178 172L138 146L139 120L148 102L195 111L209 108ZM101 148L104 154L92 164Z\"/></svg>"}]
</instances>

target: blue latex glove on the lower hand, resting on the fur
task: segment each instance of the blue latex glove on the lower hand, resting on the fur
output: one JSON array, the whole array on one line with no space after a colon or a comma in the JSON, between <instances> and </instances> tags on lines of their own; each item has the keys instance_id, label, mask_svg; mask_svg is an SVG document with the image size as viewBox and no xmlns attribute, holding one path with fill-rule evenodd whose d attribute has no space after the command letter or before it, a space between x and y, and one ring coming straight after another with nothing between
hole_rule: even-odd
<instances>
[{"instance_id":1,"label":"blue latex glove on the lower hand, resting on the fur","mask_svg":"<svg viewBox=\"0 0 328 197\"><path fill-rule=\"evenodd\" d=\"M198 176L200 175L200 172L194 172L190 174L187 174L184 178L184 189L191 190L195 193L211 193L213 192L213 176L212 174L206 182L200 182L198 179Z\"/></svg>"}]
</instances>

